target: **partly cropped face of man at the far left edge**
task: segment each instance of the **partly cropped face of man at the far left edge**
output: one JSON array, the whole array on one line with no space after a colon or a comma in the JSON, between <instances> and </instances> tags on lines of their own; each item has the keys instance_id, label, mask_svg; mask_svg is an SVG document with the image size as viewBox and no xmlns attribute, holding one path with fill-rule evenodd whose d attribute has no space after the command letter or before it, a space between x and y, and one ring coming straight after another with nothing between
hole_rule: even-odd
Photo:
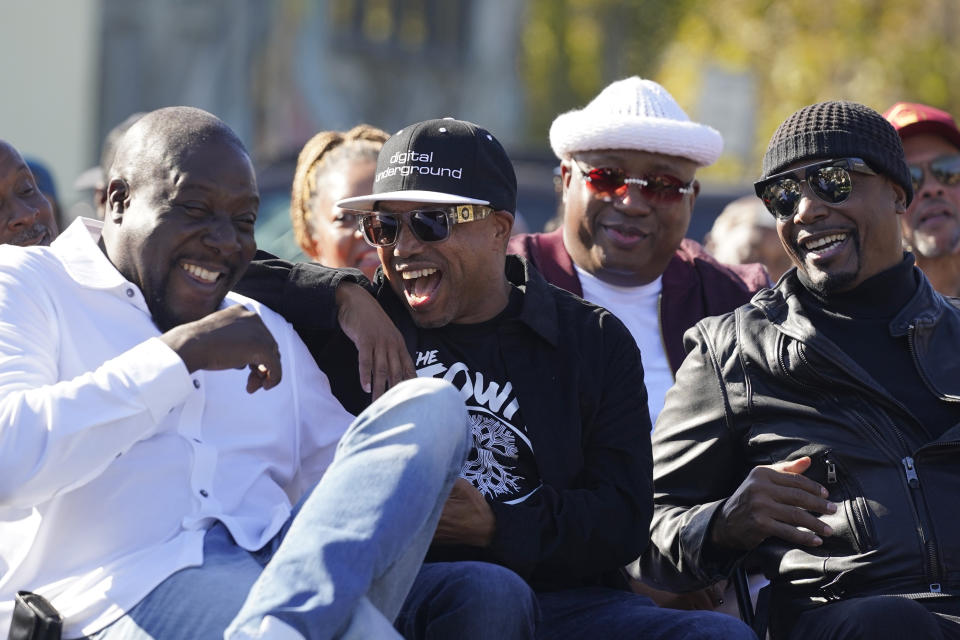
<instances>
[{"instance_id":1,"label":"partly cropped face of man at the far left edge","mask_svg":"<svg viewBox=\"0 0 960 640\"><path fill-rule=\"evenodd\" d=\"M17 150L0 140L0 244L48 245L56 237L53 208Z\"/></svg>"}]
</instances>

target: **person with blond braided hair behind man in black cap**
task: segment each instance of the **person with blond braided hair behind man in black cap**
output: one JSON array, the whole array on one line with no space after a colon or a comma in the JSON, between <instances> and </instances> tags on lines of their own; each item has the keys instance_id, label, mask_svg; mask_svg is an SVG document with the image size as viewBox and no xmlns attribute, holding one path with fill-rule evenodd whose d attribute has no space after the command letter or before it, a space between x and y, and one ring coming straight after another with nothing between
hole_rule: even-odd
<instances>
[{"instance_id":1,"label":"person with blond braided hair behind man in black cap","mask_svg":"<svg viewBox=\"0 0 960 640\"><path fill-rule=\"evenodd\" d=\"M367 124L346 133L321 131L297 158L290 220L297 244L311 260L328 267L354 267L367 278L380 265L363 241L357 215L334 203L370 193L377 153L389 135Z\"/></svg>"}]
</instances>

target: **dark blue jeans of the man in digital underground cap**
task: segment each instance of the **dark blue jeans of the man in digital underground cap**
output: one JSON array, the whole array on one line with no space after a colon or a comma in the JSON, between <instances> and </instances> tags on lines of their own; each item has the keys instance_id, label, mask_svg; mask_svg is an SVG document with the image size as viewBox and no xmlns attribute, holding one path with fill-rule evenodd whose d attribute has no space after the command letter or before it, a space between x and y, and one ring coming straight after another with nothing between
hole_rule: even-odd
<instances>
[{"instance_id":1,"label":"dark blue jeans of the man in digital underground cap","mask_svg":"<svg viewBox=\"0 0 960 640\"><path fill-rule=\"evenodd\" d=\"M407 640L756 640L722 613L661 609L646 596L605 587L535 592L486 562L424 564L396 628Z\"/></svg>"}]
</instances>

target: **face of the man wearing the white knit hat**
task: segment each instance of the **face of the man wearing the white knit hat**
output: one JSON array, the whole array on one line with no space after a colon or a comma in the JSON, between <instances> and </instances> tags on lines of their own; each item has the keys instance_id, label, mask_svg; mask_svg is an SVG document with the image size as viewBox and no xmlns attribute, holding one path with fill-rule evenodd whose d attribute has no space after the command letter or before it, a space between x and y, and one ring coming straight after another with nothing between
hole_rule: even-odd
<instances>
[{"instance_id":1,"label":"face of the man wearing the white knit hat","mask_svg":"<svg viewBox=\"0 0 960 640\"><path fill-rule=\"evenodd\" d=\"M646 151L589 151L576 154L587 168L619 168L628 176L667 174L687 183L692 160ZM609 202L587 186L576 163L564 162L563 239L573 261L601 280L623 286L644 285L660 276L687 233L699 185L673 202L644 198L630 185Z\"/></svg>"}]
</instances>

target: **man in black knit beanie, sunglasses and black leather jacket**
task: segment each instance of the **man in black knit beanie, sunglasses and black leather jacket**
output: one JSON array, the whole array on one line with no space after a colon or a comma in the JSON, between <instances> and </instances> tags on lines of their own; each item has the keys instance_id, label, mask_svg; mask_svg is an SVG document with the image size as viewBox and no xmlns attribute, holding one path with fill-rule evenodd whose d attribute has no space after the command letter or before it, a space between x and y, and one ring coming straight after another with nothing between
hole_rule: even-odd
<instances>
[{"instance_id":1,"label":"man in black knit beanie, sunglasses and black leather jacket","mask_svg":"<svg viewBox=\"0 0 960 640\"><path fill-rule=\"evenodd\" d=\"M695 589L749 555L775 638L960 637L960 309L903 251L897 132L804 107L755 186L794 268L685 337L643 575Z\"/></svg>"}]
</instances>

